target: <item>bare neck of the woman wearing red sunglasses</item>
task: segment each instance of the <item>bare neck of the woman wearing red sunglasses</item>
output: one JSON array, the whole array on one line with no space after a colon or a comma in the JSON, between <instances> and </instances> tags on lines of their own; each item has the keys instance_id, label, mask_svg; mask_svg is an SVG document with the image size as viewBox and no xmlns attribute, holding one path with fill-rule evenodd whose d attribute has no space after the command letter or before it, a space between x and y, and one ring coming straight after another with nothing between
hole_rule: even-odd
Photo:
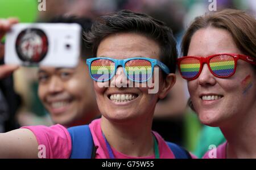
<instances>
[{"instance_id":1,"label":"bare neck of the woman wearing red sunglasses","mask_svg":"<svg viewBox=\"0 0 256 170\"><path fill-rule=\"evenodd\" d=\"M256 107L244 112L243 117L230 120L232 125L221 128L228 146L227 158L256 158Z\"/></svg>"}]
</instances>

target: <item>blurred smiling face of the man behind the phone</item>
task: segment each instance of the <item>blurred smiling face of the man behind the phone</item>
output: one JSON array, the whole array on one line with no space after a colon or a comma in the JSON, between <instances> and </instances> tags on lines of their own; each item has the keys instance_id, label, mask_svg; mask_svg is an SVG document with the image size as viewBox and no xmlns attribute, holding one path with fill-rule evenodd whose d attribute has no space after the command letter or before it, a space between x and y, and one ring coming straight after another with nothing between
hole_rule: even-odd
<instances>
[{"instance_id":1,"label":"blurred smiling face of the man behind the phone","mask_svg":"<svg viewBox=\"0 0 256 170\"><path fill-rule=\"evenodd\" d=\"M70 126L88 123L95 115L96 100L88 67L82 61L72 69L40 67L38 94L53 122Z\"/></svg>"}]
</instances>

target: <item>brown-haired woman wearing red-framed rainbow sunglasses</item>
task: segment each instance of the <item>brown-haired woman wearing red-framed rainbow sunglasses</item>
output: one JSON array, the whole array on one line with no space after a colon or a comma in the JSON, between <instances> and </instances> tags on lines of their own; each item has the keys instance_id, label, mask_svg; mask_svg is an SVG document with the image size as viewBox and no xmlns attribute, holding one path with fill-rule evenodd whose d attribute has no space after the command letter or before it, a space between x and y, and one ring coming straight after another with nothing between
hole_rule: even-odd
<instances>
[{"instance_id":1,"label":"brown-haired woman wearing red-framed rainbow sunglasses","mask_svg":"<svg viewBox=\"0 0 256 170\"><path fill-rule=\"evenodd\" d=\"M198 17L184 35L183 54L178 67L192 108L227 141L204 158L256 158L255 18L231 9Z\"/></svg>"}]
</instances>

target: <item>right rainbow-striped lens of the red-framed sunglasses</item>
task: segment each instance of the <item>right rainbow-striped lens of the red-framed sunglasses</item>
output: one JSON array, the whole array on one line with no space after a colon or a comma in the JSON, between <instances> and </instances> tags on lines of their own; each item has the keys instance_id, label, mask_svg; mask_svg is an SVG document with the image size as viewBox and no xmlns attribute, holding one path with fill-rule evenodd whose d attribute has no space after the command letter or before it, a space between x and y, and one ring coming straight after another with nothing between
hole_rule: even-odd
<instances>
[{"instance_id":1,"label":"right rainbow-striped lens of the red-framed sunglasses","mask_svg":"<svg viewBox=\"0 0 256 170\"><path fill-rule=\"evenodd\" d=\"M221 55L210 58L210 69L218 76L229 76L234 72L235 61L232 56Z\"/></svg>"}]
</instances>

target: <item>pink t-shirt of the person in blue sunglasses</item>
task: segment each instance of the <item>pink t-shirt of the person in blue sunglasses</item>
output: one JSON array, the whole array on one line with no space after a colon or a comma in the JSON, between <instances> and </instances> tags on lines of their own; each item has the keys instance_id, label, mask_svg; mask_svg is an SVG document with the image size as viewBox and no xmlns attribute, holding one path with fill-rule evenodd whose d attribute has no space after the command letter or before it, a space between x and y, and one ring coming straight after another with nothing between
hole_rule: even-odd
<instances>
[{"instance_id":1,"label":"pink t-shirt of the person in blue sunglasses","mask_svg":"<svg viewBox=\"0 0 256 170\"><path fill-rule=\"evenodd\" d=\"M96 146L96 158L109 158L109 152L106 147L106 143L104 137L101 133L100 126L101 119L97 119L92 121L89 124L90 131L92 133L93 142ZM37 141L38 145L46 146L46 158L62 158L67 159L71 155L72 150L72 141L69 135L69 132L64 126L59 124L53 125L50 127L47 126L26 126L22 127L31 130ZM175 158L174 154L167 146L166 142L158 133L153 131L157 141L159 148L159 156L160 158ZM118 159L134 159L137 157L127 156L112 148L113 154L115 158ZM194 157L192 155L192 157ZM155 155L139 157L143 159L155 158Z\"/></svg>"}]
</instances>

